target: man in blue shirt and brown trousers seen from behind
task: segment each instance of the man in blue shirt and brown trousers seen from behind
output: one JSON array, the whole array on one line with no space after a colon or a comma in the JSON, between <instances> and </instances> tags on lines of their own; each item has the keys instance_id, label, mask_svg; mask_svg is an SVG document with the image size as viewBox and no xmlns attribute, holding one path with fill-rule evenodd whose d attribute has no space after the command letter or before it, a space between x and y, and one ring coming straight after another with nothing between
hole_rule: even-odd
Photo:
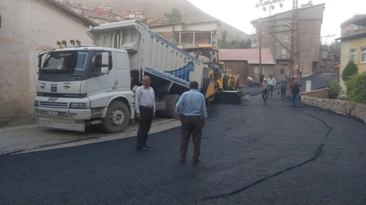
<instances>
[{"instance_id":1,"label":"man in blue shirt and brown trousers seen from behind","mask_svg":"<svg viewBox=\"0 0 366 205\"><path fill-rule=\"evenodd\" d=\"M176 114L181 121L180 162L186 161L188 143L192 134L194 146L193 162L200 162L202 128L206 124L205 96L198 92L198 82L190 82L190 91L184 92L177 104Z\"/></svg>"}]
</instances>

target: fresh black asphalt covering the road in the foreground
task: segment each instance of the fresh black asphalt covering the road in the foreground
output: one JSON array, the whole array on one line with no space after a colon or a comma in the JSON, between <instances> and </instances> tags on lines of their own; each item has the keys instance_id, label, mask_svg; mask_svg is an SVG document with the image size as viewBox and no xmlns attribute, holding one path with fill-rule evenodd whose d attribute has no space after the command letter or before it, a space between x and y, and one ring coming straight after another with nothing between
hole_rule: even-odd
<instances>
[{"instance_id":1,"label":"fresh black asphalt covering the road in the foreground","mask_svg":"<svg viewBox=\"0 0 366 205\"><path fill-rule=\"evenodd\" d=\"M215 105L201 162L178 162L179 128L136 138L0 157L0 204L364 204L366 125L329 111Z\"/></svg>"}]
</instances>

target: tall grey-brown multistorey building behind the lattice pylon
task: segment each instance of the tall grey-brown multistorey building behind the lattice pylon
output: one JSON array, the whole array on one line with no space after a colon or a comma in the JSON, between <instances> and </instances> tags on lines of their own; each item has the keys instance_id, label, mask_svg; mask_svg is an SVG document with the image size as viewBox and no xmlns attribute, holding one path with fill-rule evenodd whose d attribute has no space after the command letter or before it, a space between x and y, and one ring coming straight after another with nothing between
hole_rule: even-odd
<instances>
[{"instance_id":1,"label":"tall grey-brown multistorey building behind the lattice pylon","mask_svg":"<svg viewBox=\"0 0 366 205\"><path fill-rule=\"evenodd\" d=\"M300 67L304 68L303 73L318 71L324 9L325 4L312 5L309 3L302 5L298 10ZM261 30L261 32L264 32L262 34L262 48L271 50L276 63L290 64L291 19L292 10L263 18L261 24L259 19L253 20L251 23L256 29L256 34L252 35L253 46L259 46L258 33Z\"/></svg>"}]
</instances>

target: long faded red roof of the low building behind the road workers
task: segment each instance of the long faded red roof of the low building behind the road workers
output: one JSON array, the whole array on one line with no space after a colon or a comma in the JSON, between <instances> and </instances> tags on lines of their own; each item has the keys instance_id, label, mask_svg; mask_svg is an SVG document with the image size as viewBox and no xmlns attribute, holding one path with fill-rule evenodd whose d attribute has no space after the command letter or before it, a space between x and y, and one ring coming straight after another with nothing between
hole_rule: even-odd
<instances>
[{"instance_id":1,"label":"long faded red roof of the low building behind the road workers","mask_svg":"<svg viewBox=\"0 0 366 205\"><path fill-rule=\"evenodd\" d=\"M259 64L259 49L221 49L219 60L246 60L249 64ZM262 64L276 64L269 48L262 48Z\"/></svg>"}]
</instances>

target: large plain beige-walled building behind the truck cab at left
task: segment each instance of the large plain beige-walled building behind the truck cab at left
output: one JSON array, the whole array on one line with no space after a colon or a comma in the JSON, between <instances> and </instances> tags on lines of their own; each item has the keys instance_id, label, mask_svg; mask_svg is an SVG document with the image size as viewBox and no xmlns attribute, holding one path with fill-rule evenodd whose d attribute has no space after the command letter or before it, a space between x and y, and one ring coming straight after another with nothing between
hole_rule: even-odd
<instances>
[{"instance_id":1,"label":"large plain beige-walled building behind the truck cab at left","mask_svg":"<svg viewBox=\"0 0 366 205\"><path fill-rule=\"evenodd\" d=\"M30 114L38 53L57 48L56 41L62 40L93 46L85 30L98 24L53 0L0 1L0 8L0 116Z\"/></svg>"}]
</instances>

